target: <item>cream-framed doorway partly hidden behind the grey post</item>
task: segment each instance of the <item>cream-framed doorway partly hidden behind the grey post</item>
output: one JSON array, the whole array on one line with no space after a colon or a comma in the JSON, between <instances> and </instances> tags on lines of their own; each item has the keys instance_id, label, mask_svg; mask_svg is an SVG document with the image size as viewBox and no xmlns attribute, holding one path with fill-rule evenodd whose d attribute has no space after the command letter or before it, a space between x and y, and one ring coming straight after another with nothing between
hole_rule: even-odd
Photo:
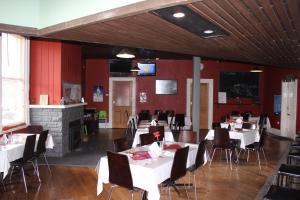
<instances>
[{"instance_id":1,"label":"cream-framed doorway partly hidden behind the grey post","mask_svg":"<svg viewBox=\"0 0 300 200\"><path fill-rule=\"evenodd\" d=\"M186 115L192 117L193 79L187 79ZM200 79L200 129L210 129L213 121L213 79Z\"/></svg>"}]
</instances>

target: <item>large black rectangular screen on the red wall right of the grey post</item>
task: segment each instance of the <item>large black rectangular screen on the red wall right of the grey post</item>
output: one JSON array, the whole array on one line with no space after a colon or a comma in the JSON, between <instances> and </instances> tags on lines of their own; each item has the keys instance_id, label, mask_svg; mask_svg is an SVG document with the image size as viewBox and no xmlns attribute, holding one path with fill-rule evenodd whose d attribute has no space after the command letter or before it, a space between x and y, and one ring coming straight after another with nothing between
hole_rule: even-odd
<instances>
[{"instance_id":1,"label":"large black rectangular screen on the red wall right of the grey post","mask_svg":"<svg viewBox=\"0 0 300 200\"><path fill-rule=\"evenodd\" d=\"M227 98L250 98L259 100L259 73L220 72L219 92Z\"/></svg>"}]
</instances>

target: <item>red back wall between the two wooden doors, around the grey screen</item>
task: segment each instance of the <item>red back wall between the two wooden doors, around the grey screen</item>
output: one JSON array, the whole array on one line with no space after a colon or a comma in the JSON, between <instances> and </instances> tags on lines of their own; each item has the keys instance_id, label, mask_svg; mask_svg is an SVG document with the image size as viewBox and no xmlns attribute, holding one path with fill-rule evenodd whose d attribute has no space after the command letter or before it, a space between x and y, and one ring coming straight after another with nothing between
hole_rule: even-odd
<instances>
[{"instance_id":1,"label":"red back wall between the two wooden doors, around the grey screen","mask_svg":"<svg viewBox=\"0 0 300 200\"><path fill-rule=\"evenodd\" d=\"M137 112L140 110L156 109L174 110L177 113L185 113L186 110L186 79L192 77L191 60L158 60L156 61L156 76L137 76ZM156 79L177 80L177 95L156 95ZM140 103L140 92L147 93L147 102Z\"/></svg>"}]
</instances>

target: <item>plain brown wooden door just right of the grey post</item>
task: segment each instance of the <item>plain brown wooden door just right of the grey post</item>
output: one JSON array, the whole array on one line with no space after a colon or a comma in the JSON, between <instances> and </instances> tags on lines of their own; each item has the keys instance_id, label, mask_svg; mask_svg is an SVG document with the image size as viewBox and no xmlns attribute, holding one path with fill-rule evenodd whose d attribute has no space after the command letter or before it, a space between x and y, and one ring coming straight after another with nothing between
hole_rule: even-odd
<instances>
[{"instance_id":1,"label":"plain brown wooden door just right of the grey post","mask_svg":"<svg viewBox=\"0 0 300 200\"><path fill-rule=\"evenodd\" d=\"M200 129L208 129L208 83L200 84Z\"/></svg>"}]
</instances>

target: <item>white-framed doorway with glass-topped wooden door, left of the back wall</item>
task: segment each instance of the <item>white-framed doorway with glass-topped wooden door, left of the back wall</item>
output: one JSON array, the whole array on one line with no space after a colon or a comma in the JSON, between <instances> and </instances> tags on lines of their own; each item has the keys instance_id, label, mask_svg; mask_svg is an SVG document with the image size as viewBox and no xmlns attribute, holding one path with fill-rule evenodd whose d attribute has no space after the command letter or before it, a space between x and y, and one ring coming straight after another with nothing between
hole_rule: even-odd
<instances>
[{"instance_id":1,"label":"white-framed doorway with glass-topped wooden door, left of the back wall","mask_svg":"<svg viewBox=\"0 0 300 200\"><path fill-rule=\"evenodd\" d=\"M109 127L126 128L127 115L134 115L136 110L135 78L109 78Z\"/></svg>"}]
</instances>

